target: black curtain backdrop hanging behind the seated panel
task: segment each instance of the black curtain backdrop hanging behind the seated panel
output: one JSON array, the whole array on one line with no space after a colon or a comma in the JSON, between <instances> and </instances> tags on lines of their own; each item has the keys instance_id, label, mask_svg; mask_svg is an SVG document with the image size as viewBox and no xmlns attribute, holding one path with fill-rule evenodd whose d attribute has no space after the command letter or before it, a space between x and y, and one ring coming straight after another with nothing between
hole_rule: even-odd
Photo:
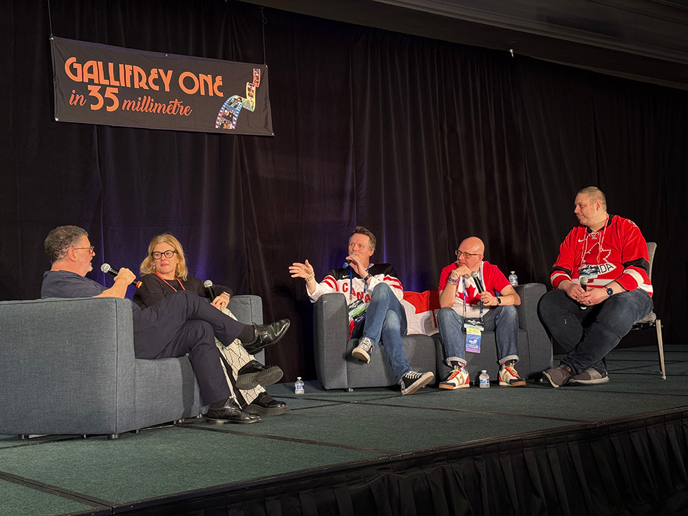
<instances>
[{"instance_id":1,"label":"black curtain backdrop hanging behind the seated panel","mask_svg":"<svg viewBox=\"0 0 688 516\"><path fill-rule=\"evenodd\" d=\"M658 243L656 312L665 341L686 342L686 92L236 1L10 0L0 18L0 299L39 296L55 226L89 231L96 271L138 270L171 231L192 273L292 320L268 361L314 378L292 261L321 279L363 224L405 290L436 288L470 235L548 284L574 195L596 184ZM51 21L65 38L266 61L275 137L55 122Z\"/></svg>"}]
</instances>

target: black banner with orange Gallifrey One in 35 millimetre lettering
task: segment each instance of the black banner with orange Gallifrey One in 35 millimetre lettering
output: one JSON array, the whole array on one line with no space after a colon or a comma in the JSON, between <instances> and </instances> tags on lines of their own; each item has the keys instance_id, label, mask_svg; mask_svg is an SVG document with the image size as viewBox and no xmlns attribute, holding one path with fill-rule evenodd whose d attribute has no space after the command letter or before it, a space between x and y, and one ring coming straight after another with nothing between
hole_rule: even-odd
<instances>
[{"instance_id":1,"label":"black banner with orange Gallifrey One in 35 millimetre lettering","mask_svg":"<svg viewBox=\"0 0 688 516\"><path fill-rule=\"evenodd\" d=\"M52 38L55 120L274 136L268 67Z\"/></svg>"}]
</instances>

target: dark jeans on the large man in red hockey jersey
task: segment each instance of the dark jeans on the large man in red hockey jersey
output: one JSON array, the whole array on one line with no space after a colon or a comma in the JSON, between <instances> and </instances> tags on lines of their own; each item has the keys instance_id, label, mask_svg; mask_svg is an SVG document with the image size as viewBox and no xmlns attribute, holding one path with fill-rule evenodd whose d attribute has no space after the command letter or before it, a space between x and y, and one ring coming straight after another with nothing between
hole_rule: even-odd
<instances>
[{"instance_id":1,"label":"dark jeans on the large man in red hockey jersey","mask_svg":"<svg viewBox=\"0 0 688 516\"><path fill-rule=\"evenodd\" d=\"M561 363L579 374L591 367L604 370L602 359L652 308L652 297L639 288L614 294L585 310L566 292L555 289L541 297L537 313L566 352ZM584 328L589 328L587 334Z\"/></svg>"}]
</instances>

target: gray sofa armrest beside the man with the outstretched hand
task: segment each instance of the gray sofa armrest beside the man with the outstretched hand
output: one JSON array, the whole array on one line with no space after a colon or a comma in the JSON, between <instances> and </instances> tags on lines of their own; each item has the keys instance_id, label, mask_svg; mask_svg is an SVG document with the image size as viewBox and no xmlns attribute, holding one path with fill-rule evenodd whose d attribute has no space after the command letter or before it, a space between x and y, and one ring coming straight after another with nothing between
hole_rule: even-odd
<instances>
[{"instance_id":1,"label":"gray sofa armrest beside the man with the outstretched hand","mask_svg":"<svg viewBox=\"0 0 688 516\"><path fill-rule=\"evenodd\" d=\"M313 309L315 372L325 389L346 389L349 312L340 292L323 294Z\"/></svg>"}]
</instances>

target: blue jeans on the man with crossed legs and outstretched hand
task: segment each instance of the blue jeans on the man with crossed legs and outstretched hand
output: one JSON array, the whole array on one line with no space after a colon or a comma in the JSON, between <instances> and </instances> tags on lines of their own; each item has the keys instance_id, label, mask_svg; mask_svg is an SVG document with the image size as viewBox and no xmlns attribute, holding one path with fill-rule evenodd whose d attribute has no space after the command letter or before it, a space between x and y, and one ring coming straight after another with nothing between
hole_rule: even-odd
<instances>
[{"instance_id":1,"label":"blue jeans on the man with crossed legs and outstretched hand","mask_svg":"<svg viewBox=\"0 0 688 516\"><path fill-rule=\"evenodd\" d=\"M391 370L397 381L411 371L401 344L401 336L406 334L406 327L404 307L396 299L387 283L379 283L373 290L371 301L365 312L363 336L368 337L373 345L380 342L382 338Z\"/></svg>"}]
</instances>

